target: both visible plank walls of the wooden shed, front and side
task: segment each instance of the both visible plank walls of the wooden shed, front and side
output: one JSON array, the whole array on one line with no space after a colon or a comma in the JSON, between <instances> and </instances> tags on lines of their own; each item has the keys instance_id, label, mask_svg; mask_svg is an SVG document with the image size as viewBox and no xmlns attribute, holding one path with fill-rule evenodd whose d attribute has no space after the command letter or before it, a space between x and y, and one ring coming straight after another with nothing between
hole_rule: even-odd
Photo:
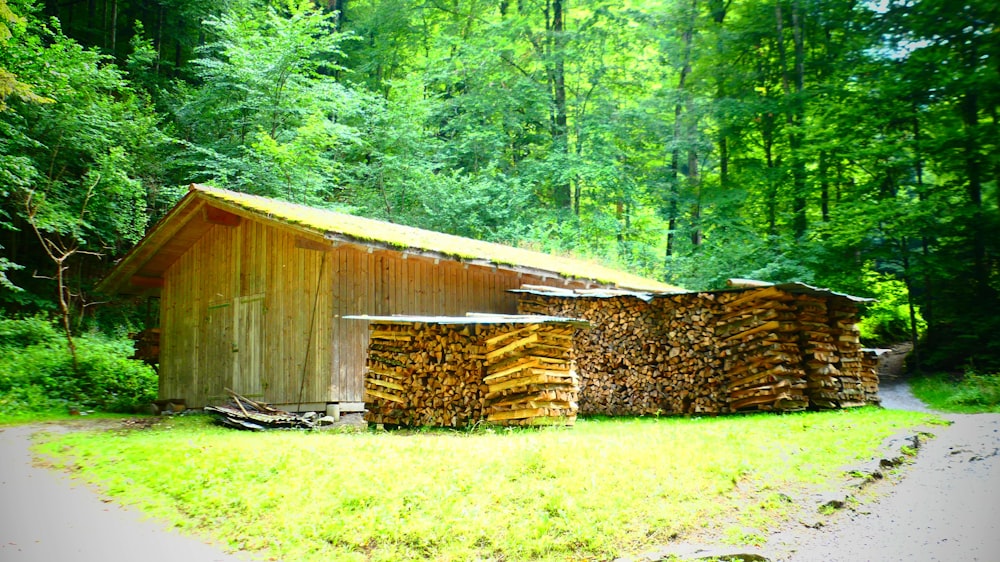
<instances>
[{"instance_id":1,"label":"both visible plank walls of the wooden shed, front and side","mask_svg":"<svg viewBox=\"0 0 1000 562\"><path fill-rule=\"evenodd\" d=\"M231 388L272 404L361 403L368 326L343 316L513 314L517 298L506 291L523 283L584 286L352 244L322 251L320 240L297 240L291 229L244 218L212 226L170 266L161 295L161 398L200 407L224 401Z\"/></svg>"}]
</instances>

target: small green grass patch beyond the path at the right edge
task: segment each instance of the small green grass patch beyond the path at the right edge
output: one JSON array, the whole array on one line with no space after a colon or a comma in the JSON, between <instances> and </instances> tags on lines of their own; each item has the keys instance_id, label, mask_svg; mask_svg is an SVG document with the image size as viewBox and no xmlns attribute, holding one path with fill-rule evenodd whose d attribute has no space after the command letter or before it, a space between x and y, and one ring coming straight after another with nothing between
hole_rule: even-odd
<instances>
[{"instance_id":1,"label":"small green grass patch beyond the path at the right edge","mask_svg":"<svg viewBox=\"0 0 1000 562\"><path fill-rule=\"evenodd\" d=\"M942 412L1000 413L1000 374L967 372L954 377L936 373L913 379L910 388L917 398Z\"/></svg>"}]
</instances>

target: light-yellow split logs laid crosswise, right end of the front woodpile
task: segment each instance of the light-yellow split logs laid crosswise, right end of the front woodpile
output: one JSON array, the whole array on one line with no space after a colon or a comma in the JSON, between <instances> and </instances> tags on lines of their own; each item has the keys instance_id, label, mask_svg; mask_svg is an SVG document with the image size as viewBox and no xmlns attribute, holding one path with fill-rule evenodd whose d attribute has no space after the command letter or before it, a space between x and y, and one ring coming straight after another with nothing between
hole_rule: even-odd
<instances>
[{"instance_id":1,"label":"light-yellow split logs laid crosswise, right end of the front woodpile","mask_svg":"<svg viewBox=\"0 0 1000 562\"><path fill-rule=\"evenodd\" d=\"M572 425L579 382L572 325L487 326L484 340L487 421L501 425Z\"/></svg>"}]
</instances>

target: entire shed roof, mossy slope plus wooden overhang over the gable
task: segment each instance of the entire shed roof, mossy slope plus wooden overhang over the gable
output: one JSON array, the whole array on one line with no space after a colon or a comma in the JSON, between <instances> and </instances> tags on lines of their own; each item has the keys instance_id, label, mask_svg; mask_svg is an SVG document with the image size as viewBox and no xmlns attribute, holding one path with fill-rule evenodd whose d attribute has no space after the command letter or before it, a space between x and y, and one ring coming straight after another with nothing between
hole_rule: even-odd
<instances>
[{"instance_id":1,"label":"entire shed roof, mossy slope plus wooden overhang over the gable","mask_svg":"<svg viewBox=\"0 0 1000 562\"><path fill-rule=\"evenodd\" d=\"M204 221L191 220L197 216L199 209L206 206L242 217L285 225L335 242L376 246L475 265L526 270L634 290L680 290L666 283L587 261L197 184L190 186L189 193L122 258L98 288L105 292L135 293L139 291L130 290L130 279L155 279L162 275L177 257L211 227L211 224Z\"/></svg>"}]
</instances>

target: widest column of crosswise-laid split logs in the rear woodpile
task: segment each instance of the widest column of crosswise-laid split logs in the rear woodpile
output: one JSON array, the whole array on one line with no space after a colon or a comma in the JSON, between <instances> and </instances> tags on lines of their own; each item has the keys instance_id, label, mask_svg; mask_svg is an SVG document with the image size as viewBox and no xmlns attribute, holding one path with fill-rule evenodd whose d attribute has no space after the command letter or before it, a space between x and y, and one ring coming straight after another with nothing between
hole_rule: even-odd
<instances>
[{"instance_id":1,"label":"widest column of crosswise-laid split logs in the rear woodpile","mask_svg":"<svg viewBox=\"0 0 1000 562\"><path fill-rule=\"evenodd\" d=\"M728 408L802 410L802 368L795 297L774 287L728 293L716 325L725 358Z\"/></svg>"}]
</instances>

